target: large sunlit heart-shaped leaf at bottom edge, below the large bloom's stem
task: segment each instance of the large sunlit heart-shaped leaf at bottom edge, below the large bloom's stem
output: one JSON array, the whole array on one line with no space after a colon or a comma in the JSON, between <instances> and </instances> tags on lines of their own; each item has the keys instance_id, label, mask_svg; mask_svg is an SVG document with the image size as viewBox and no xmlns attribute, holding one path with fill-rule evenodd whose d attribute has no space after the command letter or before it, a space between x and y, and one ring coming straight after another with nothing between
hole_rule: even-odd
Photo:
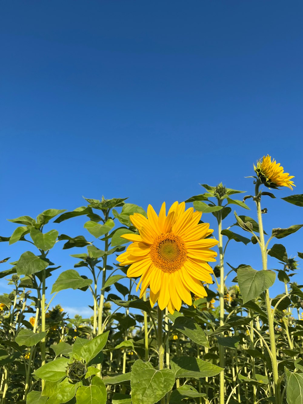
<instances>
[{"instance_id":1,"label":"large sunlit heart-shaped leaf at bottom edge, below the large bloom's stem","mask_svg":"<svg viewBox=\"0 0 303 404\"><path fill-rule=\"evenodd\" d=\"M175 375L171 369L155 370L150 362L136 360L130 375L133 404L154 404L173 388Z\"/></svg>"}]
</instances>

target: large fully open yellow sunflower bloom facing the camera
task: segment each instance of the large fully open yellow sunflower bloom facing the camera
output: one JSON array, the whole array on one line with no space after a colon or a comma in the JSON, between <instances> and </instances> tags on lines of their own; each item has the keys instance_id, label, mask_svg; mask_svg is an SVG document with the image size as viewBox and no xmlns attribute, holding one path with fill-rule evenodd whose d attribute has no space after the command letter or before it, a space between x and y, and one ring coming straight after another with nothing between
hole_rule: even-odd
<instances>
[{"instance_id":1,"label":"large fully open yellow sunflower bloom facing the camera","mask_svg":"<svg viewBox=\"0 0 303 404\"><path fill-rule=\"evenodd\" d=\"M213 269L207 261L216 261L217 252L210 250L218 244L213 238L206 238L213 230L208 223L200 223L202 213L193 208L185 210L185 202L175 202L166 216L165 202L159 216L151 205L146 219L135 213L130 220L139 234L124 234L132 241L126 252L117 260L120 265L130 265L129 278L141 276L140 297L149 286L151 307L156 301L161 310L165 307L173 314L180 310L182 300L192 304L191 294L206 297L203 282L213 283L210 276Z\"/></svg>"}]
</instances>

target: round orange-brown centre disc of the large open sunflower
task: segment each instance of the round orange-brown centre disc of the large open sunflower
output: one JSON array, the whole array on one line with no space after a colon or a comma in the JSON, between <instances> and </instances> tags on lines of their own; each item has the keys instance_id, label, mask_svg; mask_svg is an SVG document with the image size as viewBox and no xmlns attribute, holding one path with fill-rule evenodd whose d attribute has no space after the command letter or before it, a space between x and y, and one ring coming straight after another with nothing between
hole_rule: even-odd
<instances>
[{"instance_id":1,"label":"round orange-brown centre disc of the large open sunflower","mask_svg":"<svg viewBox=\"0 0 303 404\"><path fill-rule=\"evenodd\" d=\"M161 234L150 248L150 257L156 267L171 274L183 266L187 250L181 237L173 233Z\"/></svg>"}]
</instances>

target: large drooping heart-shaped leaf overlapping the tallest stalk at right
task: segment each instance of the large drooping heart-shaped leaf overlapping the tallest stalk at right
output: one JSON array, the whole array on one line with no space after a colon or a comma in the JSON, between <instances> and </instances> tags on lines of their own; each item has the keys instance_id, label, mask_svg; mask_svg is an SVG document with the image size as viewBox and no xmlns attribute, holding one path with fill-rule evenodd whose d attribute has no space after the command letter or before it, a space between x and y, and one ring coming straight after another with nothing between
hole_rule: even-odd
<instances>
[{"instance_id":1,"label":"large drooping heart-shaped leaf overlapping the tallest stalk at right","mask_svg":"<svg viewBox=\"0 0 303 404\"><path fill-rule=\"evenodd\" d=\"M274 284L276 279L273 271L256 271L249 265L240 267L237 274L243 303L260 296L265 289Z\"/></svg>"}]
</instances>

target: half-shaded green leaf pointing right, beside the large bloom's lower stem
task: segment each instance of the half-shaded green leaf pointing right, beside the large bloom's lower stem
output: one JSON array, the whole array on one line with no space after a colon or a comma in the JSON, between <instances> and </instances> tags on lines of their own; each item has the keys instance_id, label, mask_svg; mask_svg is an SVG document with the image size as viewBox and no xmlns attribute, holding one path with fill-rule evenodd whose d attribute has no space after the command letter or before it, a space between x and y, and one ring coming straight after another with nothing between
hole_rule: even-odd
<instances>
[{"instance_id":1,"label":"half-shaded green leaf pointing right, beside the large bloom's lower stem","mask_svg":"<svg viewBox=\"0 0 303 404\"><path fill-rule=\"evenodd\" d=\"M170 361L175 377L210 377L218 375L223 368L191 356L179 356Z\"/></svg>"}]
</instances>

